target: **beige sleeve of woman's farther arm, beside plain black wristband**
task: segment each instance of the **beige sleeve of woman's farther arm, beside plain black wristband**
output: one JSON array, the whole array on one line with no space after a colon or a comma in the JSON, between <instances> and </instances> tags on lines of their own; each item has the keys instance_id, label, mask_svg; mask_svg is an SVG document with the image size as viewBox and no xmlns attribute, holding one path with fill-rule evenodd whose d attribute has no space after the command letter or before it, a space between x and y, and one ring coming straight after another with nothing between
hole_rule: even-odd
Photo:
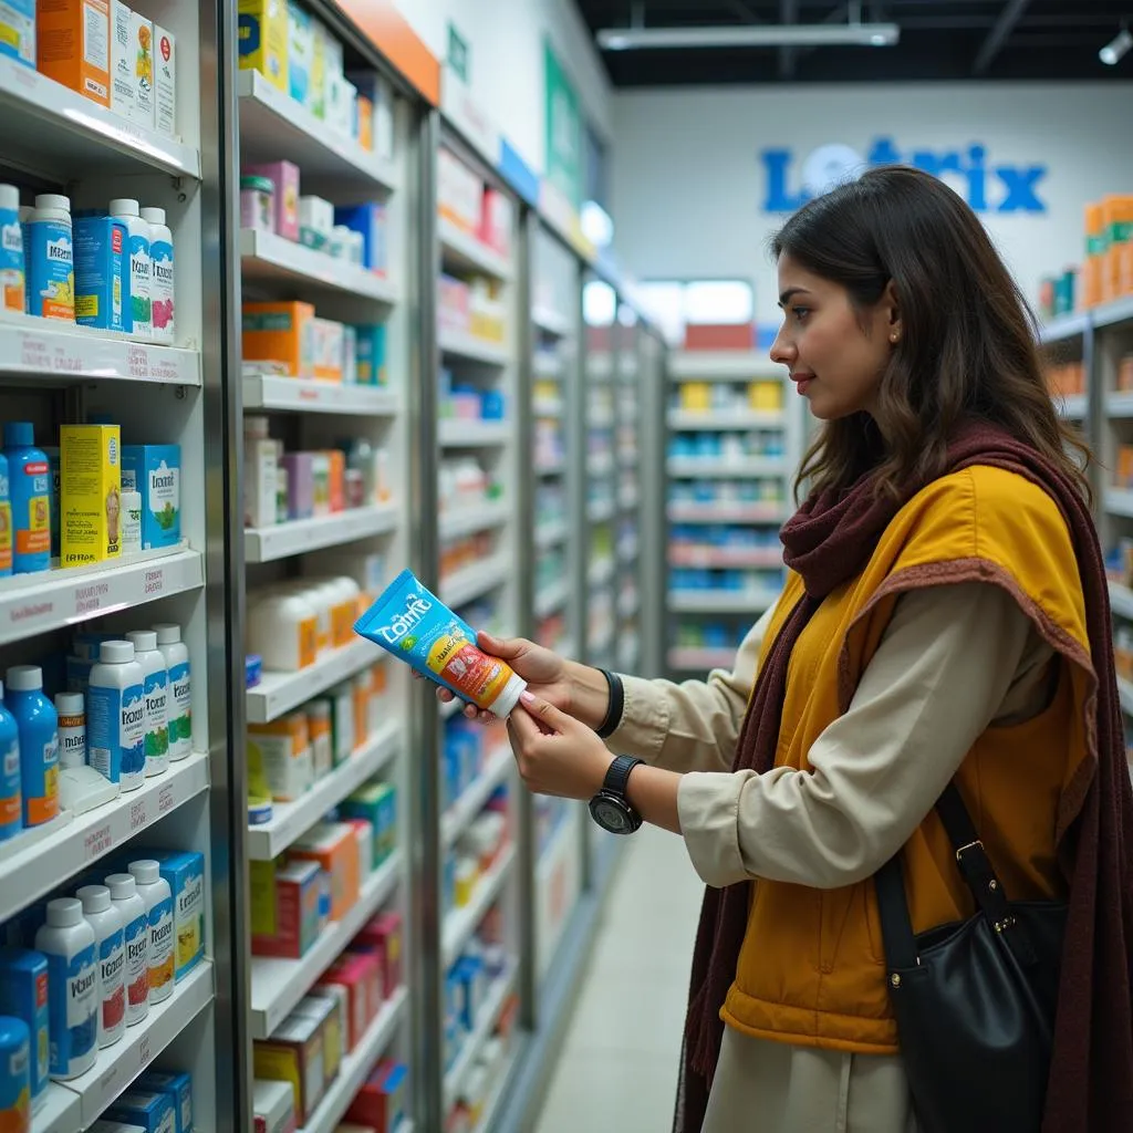
<instances>
[{"instance_id":1,"label":"beige sleeve of woman's farther arm, beside plain black wristband","mask_svg":"<svg viewBox=\"0 0 1133 1133\"><path fill-rule=\"evenodd\" d=\"M772 606L748 631L731 672L715 670L707 681L680 684L623 676L625 705L606 741L610 750L671 772L731 770L774 614Z\"/></svg>"}]
</instances>

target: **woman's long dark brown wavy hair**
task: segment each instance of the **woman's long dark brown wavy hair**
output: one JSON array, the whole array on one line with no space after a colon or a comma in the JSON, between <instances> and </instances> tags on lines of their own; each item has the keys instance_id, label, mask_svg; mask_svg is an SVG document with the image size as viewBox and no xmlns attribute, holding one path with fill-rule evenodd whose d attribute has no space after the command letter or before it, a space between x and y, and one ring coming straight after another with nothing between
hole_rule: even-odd
<instances>
[{"instance_id":1,"label":"woman's long dark brown wavy hair","mask_svg":"<svg viewBox=\"0 0 1133 1133\"><path fill-rule=\"evenodd\" d=\"M869 170L800 208L772 248L844 287L859 309L892 282L901 314L876 419L826 423L796 491L804 482L844 491L876 469L878 491L898 495L945 472L953 429L976 417L1032 445L1089 499L1089 451L1047 392L1034 316L976 213L943 181L905 167Z\"/></svg>"}]
</instances>

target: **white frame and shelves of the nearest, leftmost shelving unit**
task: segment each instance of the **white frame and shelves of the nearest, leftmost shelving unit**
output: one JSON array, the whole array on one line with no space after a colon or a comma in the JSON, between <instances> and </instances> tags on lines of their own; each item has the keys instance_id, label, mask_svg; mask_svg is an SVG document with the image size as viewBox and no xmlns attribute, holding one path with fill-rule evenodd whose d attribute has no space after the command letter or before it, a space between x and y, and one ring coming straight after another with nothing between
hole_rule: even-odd
<instances>
[{"instance_id":1,"label":"white frame and shelves of the nearest, leftmost shelving unit","mask_svg":"<svg viewBox=\"0 0 1133 1133\"><path fill-rule=\"evenodd\" d=\"M105 210L112 197L163 207L176 249L176 339L134 341L59 321L0 316L0 417L33 423L35 442L59 443L59 427L93 419L118 424L121 442L180 446L181 539L82 569L53 560L43 573L0 580L0 671L44 668L49 695L77 631L120 636L159 622L180 624L190 655L193 752L135 791L54 820L0 849L0 943L31 945L42 902L71 896L122 859L148 850L193 850L205 860L205 960L176 985L80 1077L52 1082L33 1133L88 1128L148 1066L188 1071L199 1127L227 1127L242 1106L244 885L232 868L235 767L228 688L235 658L223 628L231 607L225 533L235 492L230 412L222 382L231 341L225 303L232 278L220 252L230 181L222 101L228 74L202 86L206 59L235 42L230 5L133 7L157 17L178 54L176 139L128 123L76 92L0 59L0 181L65 193L73 210ZM206 286L206 282L207 286ZM144 491L145 495L145 491ZM61 525L60 525L61 526ZM57 552L58 554L58 552ZM236 845L233 846L233 840ZM79 875L84 880L79 880Z\"/></svg>"}]
</instances>

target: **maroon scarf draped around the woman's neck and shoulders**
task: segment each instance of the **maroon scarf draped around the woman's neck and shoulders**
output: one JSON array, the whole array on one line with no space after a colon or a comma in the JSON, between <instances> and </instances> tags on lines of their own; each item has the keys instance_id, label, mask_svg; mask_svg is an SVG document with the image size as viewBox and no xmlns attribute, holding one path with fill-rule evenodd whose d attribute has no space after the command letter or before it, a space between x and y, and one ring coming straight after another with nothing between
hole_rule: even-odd
<instances>
[{"instance_id":1,"label":"maroon scarf draped around the woman's neck and shoulders","mask_svg":"<svg viewBox=\"0 0 1133 1133\"><path fill-rule=\"evenodd\" d=\"M1058 505L1070 528L1085 596L1098 678L1097 767L1059 846L1070 886L1058 1017L1045 1133L1133 1128L1133 791L1114 673L1109 593L1101 548L1077 486L1033 449L990 425L957 432L948 468L991 466L1024 476ZM871 477L847 493L812 496L782 531L784 562L806 588L775 639L748 706L733 770L775 761L791 650L823 599L864 570L902 500L876 496ZM735 978L748 923L750 883L707 888L700 911L674 1133L699 1133L719 1057L719 1011ZM994 1083L988 1083L994 1089Z\"/></svg>"}]
</instances>

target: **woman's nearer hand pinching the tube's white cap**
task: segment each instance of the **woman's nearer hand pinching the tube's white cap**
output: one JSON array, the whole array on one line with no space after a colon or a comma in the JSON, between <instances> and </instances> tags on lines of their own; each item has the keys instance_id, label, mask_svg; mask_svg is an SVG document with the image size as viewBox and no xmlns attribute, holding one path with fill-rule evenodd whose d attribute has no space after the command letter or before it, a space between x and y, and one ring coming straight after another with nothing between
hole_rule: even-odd
<instances>
[{"instance_id":1,"label":"woman's nearer hand pinching the tube's white cap","mask_svg":"<svg viewBox=\"0 0 1133 1133\"><path fill-rule=\"evenodd\" d=\"M591 799L602 790L613 757L595 733L530 689L508 717L519 774L535 794Z\"/></svg>"}]
</instances>

